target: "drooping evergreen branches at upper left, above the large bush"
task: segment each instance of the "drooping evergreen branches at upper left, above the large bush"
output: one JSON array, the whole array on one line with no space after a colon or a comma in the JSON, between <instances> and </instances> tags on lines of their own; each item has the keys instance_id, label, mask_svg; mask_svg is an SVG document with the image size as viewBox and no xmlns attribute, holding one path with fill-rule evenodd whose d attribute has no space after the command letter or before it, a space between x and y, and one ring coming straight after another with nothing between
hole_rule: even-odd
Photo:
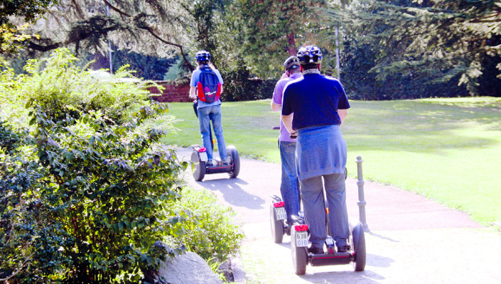
<instances>
[{"instance_id":1,"label":"drooping evergreen branches at upper left, above the large bush","mask_svg":"<svg viewBox=\"0 0 501 284\"><path fill-rule=\"evenodd\" d=\"M186 32L193 27L188 14L177 1L60 0L44 16L28 30L41 35L30 40L30 50L64 46L77 55L81 50L104 53L110 39L118 49L163 58L177 51L184 58L193 37Z\"/></svg>"}]
</instances>

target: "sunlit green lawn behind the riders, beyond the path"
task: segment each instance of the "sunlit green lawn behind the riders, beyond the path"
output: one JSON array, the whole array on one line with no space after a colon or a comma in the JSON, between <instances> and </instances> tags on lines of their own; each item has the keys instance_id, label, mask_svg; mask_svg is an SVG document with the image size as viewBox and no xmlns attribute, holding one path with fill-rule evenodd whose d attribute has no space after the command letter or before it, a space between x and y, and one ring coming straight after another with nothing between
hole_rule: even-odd
<instances>
[{"instance_id":1,"label":"sunlit green lawn behind the riders, beyond the path","mask_svg":"<svg viewBox=\"0 0 501 284\"><path fill-rule=\"evenodd\" d=\"M227 145L279 163L279 114L270 101L224 102ZM418 192L490 224L501 220L501 98L351 102L342 126L348 171L364 160L364 178ZM201 143L190 103L172 103L180 129L166 143Z\"/></svg>"}]
</instances>

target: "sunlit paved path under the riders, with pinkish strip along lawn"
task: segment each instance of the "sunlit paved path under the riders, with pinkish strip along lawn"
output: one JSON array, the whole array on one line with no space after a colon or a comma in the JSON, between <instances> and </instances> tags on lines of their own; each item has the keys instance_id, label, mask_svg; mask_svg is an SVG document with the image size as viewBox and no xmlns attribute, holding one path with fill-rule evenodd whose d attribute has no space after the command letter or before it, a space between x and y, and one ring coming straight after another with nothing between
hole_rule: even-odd
<instances>
[{"instance_id":1,"label":"sunlit paved path under the riders, with pinkish strip along lawn","mask_svg":"<svg viewBox=\"0 0 501 284\"><path fill-rule=\"evenodd\" d=\"M189 149L178 156L190 157ZM355 157L353 157L355 160ZM367 266L306 268L293 273L290 237L274 244L269 204L279 195L280 165L241 158L237 178L206 175L195 188L207 188L235 209L246 239L240 258L247 283L501 283L501 233L473 222L467 214L394 187L365 182ZM348 162L350 163L350 161ZM354 163L351 162L351 163ZM350 219L358 219L356 180L347 180Z\"/></svg>"}]
</instances>

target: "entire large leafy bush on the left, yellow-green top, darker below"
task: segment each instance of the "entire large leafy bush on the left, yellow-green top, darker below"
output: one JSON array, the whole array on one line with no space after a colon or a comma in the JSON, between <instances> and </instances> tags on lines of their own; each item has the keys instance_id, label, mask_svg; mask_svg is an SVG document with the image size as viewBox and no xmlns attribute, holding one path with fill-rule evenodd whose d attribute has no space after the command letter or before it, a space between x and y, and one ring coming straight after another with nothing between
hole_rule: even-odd
<instances>
[{"instance_id":1,"label":"entire large leafy bush on the left, yellow-green top, darker below","mask_svg":"<svg viewBox=\"0 0 501 284\"><path fill-rule=\"evenodd\" d=\"M0 150L0 280L138 283L183 251L157 241L183 233L187 214L174 204L188 164L161 147L165 131L141 131L166 105L149 100L142 84L91 81L72 60L58 50L45 69L32 62L29 75L0 74L1 114L25 111L17 119L31 127L18 148ZM1 145L21 136L1 132Z\"/></svg>"}]
</instances>

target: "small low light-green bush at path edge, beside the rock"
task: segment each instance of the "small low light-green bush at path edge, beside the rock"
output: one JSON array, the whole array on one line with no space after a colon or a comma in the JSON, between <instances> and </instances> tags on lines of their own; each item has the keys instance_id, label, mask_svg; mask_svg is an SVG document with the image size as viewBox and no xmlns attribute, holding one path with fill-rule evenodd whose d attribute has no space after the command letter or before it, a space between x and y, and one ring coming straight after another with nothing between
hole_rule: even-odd
<instances>
[{"instance_id":1,"label":"small low light-green bush at path edge, beside the rock","mask_svg":"<svg viewBox=\"0 0 501 284\"><path fill-rule=\"evenodd\" d=\"M226 261L228 256L238 250L244 235L232 217L235 212L222 206L208 190L185 188L183 198L176 202L178 211L189 210L193 215L182 226L185 234L179 239L193 251L210 261Z\"/></svg>"}]
</instances>

